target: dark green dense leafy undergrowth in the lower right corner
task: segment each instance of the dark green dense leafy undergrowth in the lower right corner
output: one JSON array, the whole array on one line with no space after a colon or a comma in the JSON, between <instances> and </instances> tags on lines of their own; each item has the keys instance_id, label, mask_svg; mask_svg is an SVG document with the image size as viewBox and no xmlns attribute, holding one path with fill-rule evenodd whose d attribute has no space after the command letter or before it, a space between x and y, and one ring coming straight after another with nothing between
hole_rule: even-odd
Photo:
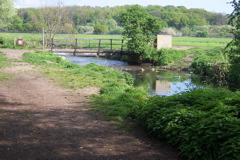
<instances>
[{"instance_id":1,"label":"dark green dense leafy undergrowth in the lower right corner","mask_svg":"<svg viewBox=\"0 0 240 160\"><path fill-rule=\"evenodd\" d=\"M148 131L178 147L189 159L227 160L240 156L239 94L222 89L152 97L135 109Z\"/></svg>"}]
</instances>

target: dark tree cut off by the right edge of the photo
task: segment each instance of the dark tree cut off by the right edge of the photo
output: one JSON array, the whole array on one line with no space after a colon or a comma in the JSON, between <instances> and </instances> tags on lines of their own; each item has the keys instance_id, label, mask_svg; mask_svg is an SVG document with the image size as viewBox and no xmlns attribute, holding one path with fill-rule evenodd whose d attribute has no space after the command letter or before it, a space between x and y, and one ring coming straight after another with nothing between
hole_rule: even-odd
<instances>
[{"instance_id":1,"label":"dark tree cut off by the right edge of the photo","mask_svg":"<svg viewBox=\"0 0 240 160\"><path fill-rule=\"evenodd\" d=\"M233 40L227 45L226 52L228 53L230 68L228 81L234 84L234 88L240 88L240 0L230 2L234 7L233 12L229 16L229 24L233 26Z\"/></svg>"}]
</instances>

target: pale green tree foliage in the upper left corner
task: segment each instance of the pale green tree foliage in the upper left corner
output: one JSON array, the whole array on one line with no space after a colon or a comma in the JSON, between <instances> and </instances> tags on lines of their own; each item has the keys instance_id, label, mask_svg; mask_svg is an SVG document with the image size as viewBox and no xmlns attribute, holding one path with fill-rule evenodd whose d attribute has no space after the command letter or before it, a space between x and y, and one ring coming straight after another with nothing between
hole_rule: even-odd
<instances>
[{"instance_id":1,"label":"pale green tree foliage in the upper left corner","mask_svg":"<svg viewBox=\"0 0 240 160\"><path fill-rule=\"evenodd\" d=\"M13 0L0 0L0 28L7 27L16 14Z\"/></svg>"}]
</instances>

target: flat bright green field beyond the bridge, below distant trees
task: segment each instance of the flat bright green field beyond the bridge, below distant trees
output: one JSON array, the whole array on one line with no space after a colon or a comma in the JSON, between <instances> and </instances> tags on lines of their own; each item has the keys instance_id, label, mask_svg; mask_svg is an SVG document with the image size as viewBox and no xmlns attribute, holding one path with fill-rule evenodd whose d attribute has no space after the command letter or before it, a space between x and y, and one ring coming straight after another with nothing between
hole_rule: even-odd
<instances>
[{"instance_id":1,"label":"flat bright green field beyond the bridge, below distant trees","mask_svg":"<svg viewBox=\"0 0 240 160\"><path fill-rule=\"evenodd\" d=\"M7 39L8 48L13 46L14 38L23 38L29 48L41 48L42 34L30 33L0 33L0 37ZM88 35L88 34L58 34L56 38L79 39L122 39L121 35ZM173 37L173 46L191 46L200 48L222 47L224 48L231 39L229 38L197 38L197 37Z\"/></svg>"}]
</instances>

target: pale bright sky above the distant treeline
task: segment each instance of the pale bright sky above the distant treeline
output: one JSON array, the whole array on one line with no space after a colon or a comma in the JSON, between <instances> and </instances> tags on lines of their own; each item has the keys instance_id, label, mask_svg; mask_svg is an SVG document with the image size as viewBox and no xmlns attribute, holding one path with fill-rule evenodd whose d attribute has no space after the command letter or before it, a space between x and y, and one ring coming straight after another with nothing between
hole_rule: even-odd
<instances>
[{"instance_id":1,"label":"pale bright sky above the distant treeline","mask_svg":"<svg viewBox=\"0 0 240 160\"><path fill-rule=\"evenodd\" d=\"M40 7L44 0L15 0L16 8ZM58 0L45 0L50 3ZM203 8L212 12L221 12L230 14L233 11L231 0L62 0L64 5L78 5L78 6L121 6L139 4L141 6L148 5L174 5L185 6L187 8Z\"/></svg>"}]
</instances>

